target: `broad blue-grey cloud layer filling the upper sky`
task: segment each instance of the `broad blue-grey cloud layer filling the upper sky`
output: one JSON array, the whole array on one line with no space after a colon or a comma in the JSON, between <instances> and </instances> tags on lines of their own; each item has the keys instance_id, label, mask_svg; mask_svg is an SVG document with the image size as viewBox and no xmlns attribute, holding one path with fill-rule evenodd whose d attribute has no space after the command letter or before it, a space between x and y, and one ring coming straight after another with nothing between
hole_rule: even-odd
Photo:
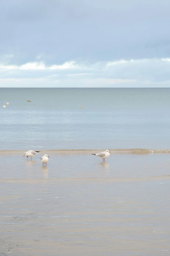
<instances>
[{"instance_id":1,"label":"broad blue-grey cloud layer filling the upper sky","mask_svg":"<svg viewBox=\"0 0 170 256\"><path fill-rule=\"evenodd\" d=\"M168 0L2 0L0 22L0 55L14 54L11 65L161 59L170 52Z\"/></svg>"}]
</instances>

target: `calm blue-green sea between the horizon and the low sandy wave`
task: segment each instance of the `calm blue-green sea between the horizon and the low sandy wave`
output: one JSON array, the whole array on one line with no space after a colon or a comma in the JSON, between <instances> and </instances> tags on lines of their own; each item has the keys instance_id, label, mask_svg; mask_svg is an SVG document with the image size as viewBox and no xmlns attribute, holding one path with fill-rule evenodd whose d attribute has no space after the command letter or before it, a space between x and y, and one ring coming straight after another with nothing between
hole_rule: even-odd
<instances>
[{"instance_id":1,"label":"calm blue-green sea between the horizon and the low sandy wave","mask_svg":"<svg viewBox=\"0 0 170 256\"><path fill-rule=\"evenodd\" d=\"M170 89L0 88L0 102L1 150L170 148Z\"/></svg>"}]
</instances>

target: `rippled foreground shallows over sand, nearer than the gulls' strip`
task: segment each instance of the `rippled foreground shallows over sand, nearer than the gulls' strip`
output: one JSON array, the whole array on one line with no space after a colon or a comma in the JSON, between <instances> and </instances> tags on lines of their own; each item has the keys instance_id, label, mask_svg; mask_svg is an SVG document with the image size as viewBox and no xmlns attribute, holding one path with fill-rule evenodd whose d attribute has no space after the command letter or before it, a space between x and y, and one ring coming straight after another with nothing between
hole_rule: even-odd
<instances>
[{"instance_id":1,"label":"rippled foreground shallows over sand, nearer than the gulls' strip","mask_svg":"<svg viewBox=\"0 0 170 256\"><path fill-rule=\"evenodd\" d=\"M169 255L167 180L0 186L2 255Z\"/></svg>"}]
</instances>

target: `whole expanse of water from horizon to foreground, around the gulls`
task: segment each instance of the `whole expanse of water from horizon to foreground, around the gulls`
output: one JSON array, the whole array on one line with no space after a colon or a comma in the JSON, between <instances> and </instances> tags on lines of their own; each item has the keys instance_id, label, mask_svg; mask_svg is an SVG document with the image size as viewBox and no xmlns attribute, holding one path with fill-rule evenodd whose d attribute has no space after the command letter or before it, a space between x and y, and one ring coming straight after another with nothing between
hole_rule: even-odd
<instances>
[{"instance_id":1,"label":"whole expanse of water from horizon to foreground, around the gulls","mask_svg":"<svg viewBox=\"0 0 170 256\"><path fill-rule=\"evenodd\" d=\"M0 88L0 255L169 255L169 93Z\"/></svg>"}]
</instances>

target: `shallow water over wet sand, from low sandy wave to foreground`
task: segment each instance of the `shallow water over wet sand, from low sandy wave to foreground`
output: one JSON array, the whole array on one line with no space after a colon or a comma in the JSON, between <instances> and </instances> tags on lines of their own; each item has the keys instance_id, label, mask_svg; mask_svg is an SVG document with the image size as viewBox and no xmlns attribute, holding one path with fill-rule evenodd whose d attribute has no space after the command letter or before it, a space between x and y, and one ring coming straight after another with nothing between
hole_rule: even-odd
<instances>
[{"instance_id":1,"label":"shallow water over wet sand, from low sandy wave to foreground","mask_svg":"<svg viewBox=\"0 0 170 256\"><path fill-rule=\"evenodd\" d=\"M0 152L0 255L169 255L168 154L75 152Z\"/></svg>"}]
</instances>

